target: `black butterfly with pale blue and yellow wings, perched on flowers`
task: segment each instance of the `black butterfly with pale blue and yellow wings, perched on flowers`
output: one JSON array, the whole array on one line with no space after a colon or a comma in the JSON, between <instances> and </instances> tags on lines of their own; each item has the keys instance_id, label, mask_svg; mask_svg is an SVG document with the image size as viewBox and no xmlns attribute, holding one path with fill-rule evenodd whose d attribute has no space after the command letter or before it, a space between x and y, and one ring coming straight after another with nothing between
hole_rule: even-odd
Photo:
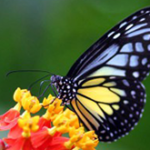
<instances>
[{"instance_id":1,"label":"black butterfly with pale blue and yellow wings, perched on flowers","mask_svg":"<svg viewBox=\"0 0 150 150\"><path fill-rule=\"evenodd\" d=\"M141 83L150 70L150 7L132 14L95 42L65 77L51 76L58 97L70 104L100 141L127 135L142 117Z\"/></svg>"}]
</instances>

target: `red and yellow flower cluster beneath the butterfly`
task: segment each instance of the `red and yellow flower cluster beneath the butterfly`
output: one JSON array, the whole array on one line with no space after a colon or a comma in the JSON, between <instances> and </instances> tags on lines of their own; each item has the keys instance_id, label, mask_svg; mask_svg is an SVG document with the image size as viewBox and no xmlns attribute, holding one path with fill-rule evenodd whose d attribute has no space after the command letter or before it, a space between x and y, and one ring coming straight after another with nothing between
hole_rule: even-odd
<instances>
[{"instance_id":1,"label":"red and yellow flower cluster beneath the butterfly","mask_svg":"<svg viewBox=\"0 0 150 150\"><path fill-rule=\"evenodd\" d=\"M13 99L17 104L0 116L0 131L9 130L7 138L0 140L0 150L95 150L98 139L94 131L85 132L60 99L49 95L40 103L30 91L20 88ZM46 109L45 114L35 115L41 108Z\"/></svg>"}]
</instances>

